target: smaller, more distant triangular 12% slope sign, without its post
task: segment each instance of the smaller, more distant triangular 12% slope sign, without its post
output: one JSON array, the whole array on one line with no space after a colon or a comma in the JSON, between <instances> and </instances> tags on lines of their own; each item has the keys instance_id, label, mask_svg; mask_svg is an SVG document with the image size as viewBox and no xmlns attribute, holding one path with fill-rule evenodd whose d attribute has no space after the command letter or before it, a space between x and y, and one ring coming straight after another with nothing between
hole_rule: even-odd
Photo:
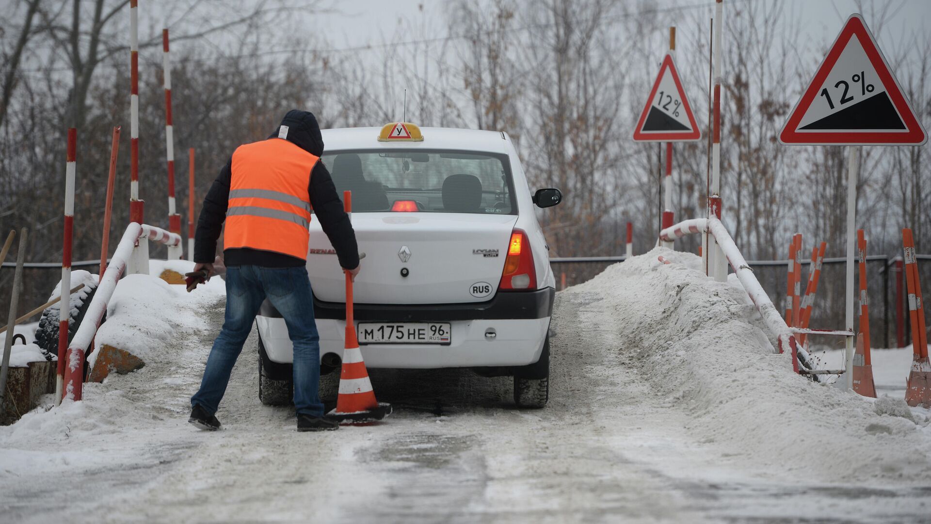
<instances>
[{"instance_id":1,"label":"smaller, more distant triangular 12% slope sign, without its post","mask_svg":"<svg viewBox=\"0 0 931 524\"><path fill-rule=\"evenodd\" d=\"M653 90L643 107L634 140L638 142L686 142L701 138L695 114L682 90L679 72L667 54L659 67Z\"/></svg>"}]
</instances>

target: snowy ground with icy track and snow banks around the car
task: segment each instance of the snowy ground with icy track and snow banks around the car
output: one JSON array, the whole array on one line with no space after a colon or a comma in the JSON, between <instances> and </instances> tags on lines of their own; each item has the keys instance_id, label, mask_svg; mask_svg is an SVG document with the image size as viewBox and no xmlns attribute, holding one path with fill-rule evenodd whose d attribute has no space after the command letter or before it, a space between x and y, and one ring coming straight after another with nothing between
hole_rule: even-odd
<instances>
[{"instance_id":1,"label":"snowy ground with icy track and snow banks around the car","mask_svg":"<svg viewBox=\"0 0 931 524\"><path fill-rule=\"evenodd\" d=\"M694 263L656 250L558 294L545 409L516 409L508 379L375 370L396 413L326 434L259 404L254 336L224 431L194 430L223 296L137 277L170 335L84 402L0 428L0 520L931 521L926 415L792 375L742 291Z\"/></svg>"}]
</instances>

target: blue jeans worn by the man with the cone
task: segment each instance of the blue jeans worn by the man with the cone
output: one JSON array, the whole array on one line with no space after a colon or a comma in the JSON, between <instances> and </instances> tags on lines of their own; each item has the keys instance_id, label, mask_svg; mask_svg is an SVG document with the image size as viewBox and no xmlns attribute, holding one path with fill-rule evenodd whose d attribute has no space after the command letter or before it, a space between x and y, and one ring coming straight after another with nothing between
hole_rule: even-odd
<instances>
[{"instance_id":1,"label":"blue jeans worn by the man with the cone","mask_svg":"<svg viewBox=\"0 0 931 524\"><path fill-rule=\"evenodd\" d=\"M223 329L213 342L200 390L191 397L216 413L236 357L249 337L252 322L265 297L281 313L294 346L294 407L298 413L323 416L317 394L320 381L320 337L314 322L314 300L307 269L238 266L226 269L226 315Z\"/></svg>"}]
</instances>

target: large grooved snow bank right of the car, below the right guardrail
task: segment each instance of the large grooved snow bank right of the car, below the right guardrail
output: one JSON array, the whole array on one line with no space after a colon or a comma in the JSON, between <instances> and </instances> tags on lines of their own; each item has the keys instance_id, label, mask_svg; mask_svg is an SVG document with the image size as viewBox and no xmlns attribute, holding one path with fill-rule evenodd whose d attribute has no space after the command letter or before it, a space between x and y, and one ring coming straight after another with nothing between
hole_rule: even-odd
<instances>
[{"instance_id":1,"label":"large grooved snow bank right of the car, below the right guardrail","mask_svg":"<svg viewBox=\"0 0 931 524\"><path fill-rule=\"evenodd\" d=\"M616 351L686 409L702 442L726 451L722 465L823 481L931 480L928 428L792 373L740 284L716 283L699 265L656 248L563 293L600 298L593 314L603 318L592 322L616 330Z\"/></svg>"}]
</instances>

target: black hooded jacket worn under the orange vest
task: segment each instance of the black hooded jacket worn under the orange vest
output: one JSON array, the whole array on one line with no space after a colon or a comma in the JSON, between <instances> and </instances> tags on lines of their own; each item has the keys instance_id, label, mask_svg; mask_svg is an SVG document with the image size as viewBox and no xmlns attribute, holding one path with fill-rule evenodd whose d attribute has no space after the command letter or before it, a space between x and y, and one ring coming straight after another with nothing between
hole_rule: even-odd
<instances>
[{"instance_id":1,"label":"black hooded jacket worn under the orange vest","mask_svg":"<svg viewBox=\"0 0 931 524\"><path fill-rule=\"evenodd\" d=\"M300 146L304 151L319 157L323 155L323 138L317 118L307 111L291 110L281 120L282 126L288 126L287 140ZM279 128L280 129L280 126ZM277 139L276 129L268 139ZM220 170L220 175L213 181L207 198L204 199L197 219L197 230L194 244L194 261L211 263L216 256L217 239L223 221L226 220L226 209L229 205L230 180L233 159L230 158ZM310 175L310 185L307 187L310 194L310 204L314 214L320 222L323 232L330 238L340 266L345 269L358 267L358 245L356 232L349 223L349 217L343 211L343 201L336 193L330 172L322 161L318 161ZM223 261L227 266L254 265L265 268L299 268L304 266L304 260L290 255L273 253L259 249L236 248L223 251Z\"/></svg>"}]
</instances>

